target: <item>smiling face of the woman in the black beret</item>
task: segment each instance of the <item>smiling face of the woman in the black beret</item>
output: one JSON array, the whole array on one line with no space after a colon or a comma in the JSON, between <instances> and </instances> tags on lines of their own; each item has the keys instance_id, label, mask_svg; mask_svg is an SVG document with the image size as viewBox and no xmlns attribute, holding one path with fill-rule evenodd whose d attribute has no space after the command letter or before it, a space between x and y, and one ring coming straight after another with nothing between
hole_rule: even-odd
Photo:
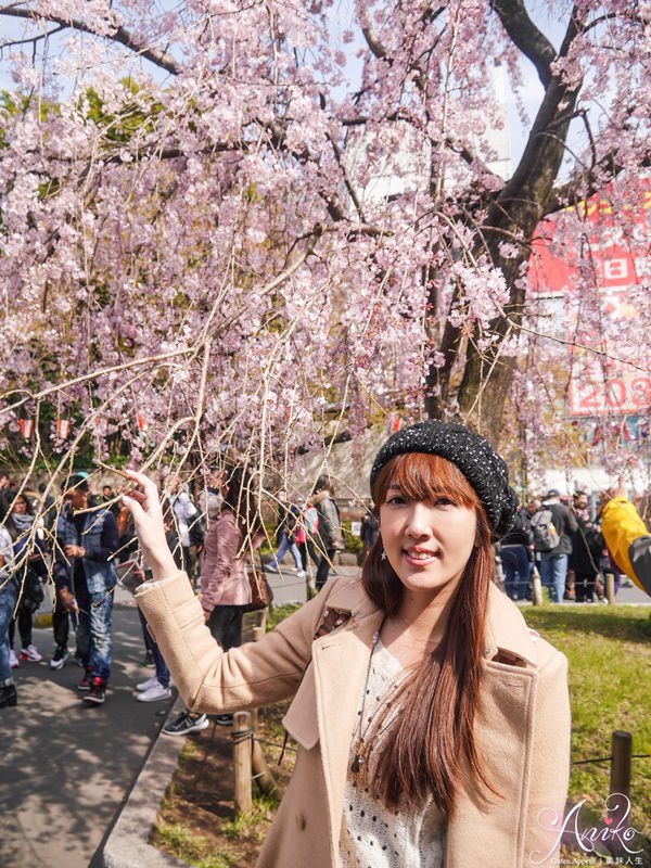
<instances>
[{"instance_id":1,"label":"smiling face of the woman in the black beret","mask_svg":"<svg viewBox=\"0 0 651 868\"><path fill-rule=\"evenodd\" d=\"M388 562L412 591L435 591L458 580L471 556L476 513L447 498L408 500L391 485L380 506L380 533Z\"/></svg>"}]
</instances>

